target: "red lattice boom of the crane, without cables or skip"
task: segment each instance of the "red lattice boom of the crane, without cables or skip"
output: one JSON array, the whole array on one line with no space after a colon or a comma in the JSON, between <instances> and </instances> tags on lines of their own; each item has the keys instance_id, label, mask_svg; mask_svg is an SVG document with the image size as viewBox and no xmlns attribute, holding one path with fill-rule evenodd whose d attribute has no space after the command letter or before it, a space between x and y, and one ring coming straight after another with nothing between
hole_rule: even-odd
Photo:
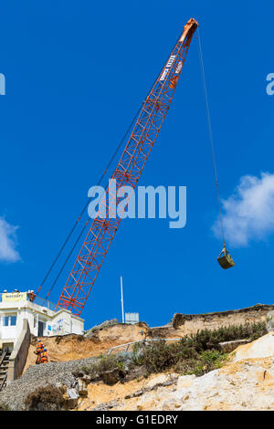
<instances>
[{"instance_id":1,"label":"red lattice boom of the crane, without cables or skip","mask_svg":"<svg viewBox=\"0 0 274 429\"><path fill-rule=\"evenodd\" d=\"M134 189L138 183L144 164L171 105L174 90L197 26L198 24L193 18L184 26L184 31L155 81L153 89L142 104L142 110L132 128L129 141L111 175L111 179L116 180L117 191L125 185L130 185ZM107 214L111 213L109 196L110 189L108 188L106 199L101 203L105 204ZM111 201L115 200L111 199ZM119 204L119 198L115 204L116 206ZM104 219L98 216L93 219L88 235L86 235L68 276L68 281L58 299L57 309L71 310L77 316L81 314L120 222L121 217L118 216L115 218L108 216Z\"/></svg>"}]
</instances>

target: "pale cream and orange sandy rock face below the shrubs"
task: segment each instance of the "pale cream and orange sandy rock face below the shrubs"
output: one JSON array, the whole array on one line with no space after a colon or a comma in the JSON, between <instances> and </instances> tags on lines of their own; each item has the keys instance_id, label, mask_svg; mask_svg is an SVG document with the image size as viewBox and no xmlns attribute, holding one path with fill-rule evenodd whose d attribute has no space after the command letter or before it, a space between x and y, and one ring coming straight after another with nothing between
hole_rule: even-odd
<instances>
[{"instance_id":1,"label":"pale cream and orange sandy rock face below the shrubs","mask_svg":"<svg viewBox=\"0 0 274 429\"><path fill-rule=\"evenodd\" d=\"M202 377L166 371L148 379L88 386L79 410L274 410L274 333L240 346L230 361Z\"/></svg>"}]
</instances>

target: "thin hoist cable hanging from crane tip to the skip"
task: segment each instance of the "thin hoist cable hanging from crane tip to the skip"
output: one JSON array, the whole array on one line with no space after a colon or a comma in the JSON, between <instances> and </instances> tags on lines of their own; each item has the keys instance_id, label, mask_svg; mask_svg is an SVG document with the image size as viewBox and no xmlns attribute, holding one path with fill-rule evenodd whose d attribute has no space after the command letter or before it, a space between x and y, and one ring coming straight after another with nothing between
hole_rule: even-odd
<instances>
[{"instance_id":1,"label":"thin hoist cable hanging from crane tip to the skip","mask_svg":"<svg viewBox=\"0 0 274 429\"><path fill-rule=\"evenodd\" d=\"M208 97L207 97L207 89L206 89L206 81L205 81L205 67L204 67L202 44L201 44L199 28L197 28L197 39L198 39L199 57L200 57L200 64L201 64L201 74L202 74L203 87L204 87L205 110L206 110L206 116L207 116L209 140L210 140L210 145L211 145L212 162L213 162L213 169L214 169L215 183L216 183L216 195L217 195L217 201L218 201L218 207L219 207L221 234L222 234L223 241L224 241L224 249L226 250L226 239L225 239L225 232L224 232L224 225L223 225L223 214L222 214L222 206L221 206L221 199L220 199L218 174L217 174L217 168L216 168L216 155L215 155L215 149L214 149L213 133L212 133L212 126L211 126L211 117L210 117L209 103L208 103Z\"/></svg>"}]
</instances>

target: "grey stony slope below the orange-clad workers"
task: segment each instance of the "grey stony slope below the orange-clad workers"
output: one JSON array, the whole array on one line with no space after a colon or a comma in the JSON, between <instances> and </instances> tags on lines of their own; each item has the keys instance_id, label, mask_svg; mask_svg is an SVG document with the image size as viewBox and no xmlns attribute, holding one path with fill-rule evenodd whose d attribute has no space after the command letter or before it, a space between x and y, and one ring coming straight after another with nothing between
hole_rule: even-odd
<instances>
[{"instance_id":1,"label":"grey stony slope below the orange-clad workers","mask_svg":"<svg viewBox=\"0 0 274 429\"><path fill-rule=\"evenodd\" d=\"M14 382L10 382L0 392L0 403L6 403L12 410L24 410L26 396L37 387L47 384L62 383L68 388L74 387L77 382L72 375L73 371L80 370L96 361L96 358L81 359L79 361L49 362L32 365L26 373Z\"/></svg>"}]
</instances>

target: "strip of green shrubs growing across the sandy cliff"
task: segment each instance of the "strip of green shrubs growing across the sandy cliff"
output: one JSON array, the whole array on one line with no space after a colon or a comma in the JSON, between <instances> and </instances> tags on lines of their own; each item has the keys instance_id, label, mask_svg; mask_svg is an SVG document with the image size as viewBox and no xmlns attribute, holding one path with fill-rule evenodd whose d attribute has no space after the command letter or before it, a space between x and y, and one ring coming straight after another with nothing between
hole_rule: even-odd
<instances>
[{"instance_id":1,"label":"strip of green shrubs growing across the sandy cliff","mask_svg":"<svg viewBox=\"0 0 274 429\"><path fill-rule=\"evenodd\" d=\"M127 366L136 376L161 372L174 368L182 374L203 375L220 368L227 361L227 354L221 351L220 342L230 340L256 340L267 333L266 323L232 325L217 330L199 330L181 340L168 343L164 340L144 343L139 341L132 347L132 363ZM136 367L140 367L136 369ZM120 356L100 356L95 363L83 367L86 374L92 374L94 381L107 380L106 371L119 370L117 381L124 379L126 371ZM116 371L117 372L117 371Z\"/></svg>"}]
</instances>

